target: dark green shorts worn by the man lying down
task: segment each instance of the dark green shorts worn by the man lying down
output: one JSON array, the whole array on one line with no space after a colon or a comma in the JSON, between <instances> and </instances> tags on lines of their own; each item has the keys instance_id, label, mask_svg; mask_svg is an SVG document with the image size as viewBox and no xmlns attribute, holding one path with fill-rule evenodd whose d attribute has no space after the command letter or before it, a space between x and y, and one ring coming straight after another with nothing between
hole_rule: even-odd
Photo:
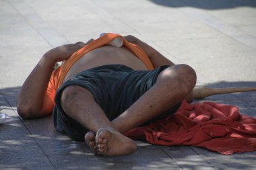
<instances>
[{"instance_id":1,"label":"dark green shorts worn by the man lying down","mask_svg":"<svg viewBox=\"0 0 256 170\"><path fill-rule=\"evenodd\" d=\"M84 135L89 131L63 111L61 93L65 87L79 85L88 89L108 119L113 120L148 91L156 83L160 72L167 67L169 66L162 66L152 71L134 71L125 65L104 65L78 73L63 83L55 95L56 105L53 110L55 128L75 140L84 140ZM178 108L179 105L158 118L170 116Z\"/></svg>"}]
</instances>

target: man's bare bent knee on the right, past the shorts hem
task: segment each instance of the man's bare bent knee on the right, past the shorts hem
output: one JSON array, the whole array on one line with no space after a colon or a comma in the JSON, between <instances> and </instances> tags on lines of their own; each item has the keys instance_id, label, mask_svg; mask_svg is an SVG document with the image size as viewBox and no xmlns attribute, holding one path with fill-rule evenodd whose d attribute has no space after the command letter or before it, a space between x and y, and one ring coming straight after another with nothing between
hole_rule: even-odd
<instances>
[{"instance_id":1,"label":"man's bare bent knee on the right, past the shorts hem","mask_svg":"<svg viewBox=\"0 0 256 170\"><path fill-rule=\"evenodd\" d=\"M176 83L179 87L189 92L195 87L197 75L189 65L181 64L164 69L158 79L162 79L167 84Z\"/></svg>"}]
</instances>

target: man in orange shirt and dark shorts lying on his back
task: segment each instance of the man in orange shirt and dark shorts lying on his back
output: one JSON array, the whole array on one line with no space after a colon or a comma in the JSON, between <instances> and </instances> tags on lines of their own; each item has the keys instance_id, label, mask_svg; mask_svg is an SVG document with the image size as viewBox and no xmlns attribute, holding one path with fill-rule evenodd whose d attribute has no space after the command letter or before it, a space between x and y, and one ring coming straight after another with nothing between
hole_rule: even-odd
<instances>
[{"instance_id":1,"label":"man in orange shirt and dark shorts lying on his back","mask_svg":"<svg viewBox=\"0 0 256 170\"><path fill-rule=\"evenodd\" d=\"M109 45L115 38L120 47ZM63 65L55 69L57 61ZM17 100L22 118L53 114L55 128L85 140L96 155L129 155L125 132L174 114L195 86L195 71L174 65L133 36L104 34L46 52Z\"/></svg>"}]
</instances>

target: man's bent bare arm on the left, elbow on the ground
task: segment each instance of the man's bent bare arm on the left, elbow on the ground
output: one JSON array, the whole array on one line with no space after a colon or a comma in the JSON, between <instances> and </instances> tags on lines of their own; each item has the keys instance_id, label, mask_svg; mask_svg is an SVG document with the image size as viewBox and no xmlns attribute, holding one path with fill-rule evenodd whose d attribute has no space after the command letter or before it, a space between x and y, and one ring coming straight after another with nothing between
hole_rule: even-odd
<instances>
[{"instance_id":1,"label":"man's bent bare arm on the left, elbow on the ground","mask_svg":"<svg viewBox=\"0 0 256 170\"><path fill-rule=\"evenodd\" d=\"M51 78L55 62L67 60L73 52L84 44L67 44L49 50L42 56L36 67L30 73L17 99L17 111L22 118L40 118L51 114L51 110L45 110L43 102L45 91Z\"/></svg>"}]
</instances>

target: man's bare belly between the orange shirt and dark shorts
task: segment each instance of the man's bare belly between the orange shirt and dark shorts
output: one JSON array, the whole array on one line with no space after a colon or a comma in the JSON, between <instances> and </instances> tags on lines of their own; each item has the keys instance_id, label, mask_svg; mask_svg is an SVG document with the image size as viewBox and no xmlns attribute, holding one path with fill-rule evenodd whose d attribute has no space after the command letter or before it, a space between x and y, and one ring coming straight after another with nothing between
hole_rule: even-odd
<instances>
[{"instance_id":1,"label":"man's bare belly between the orange shirt and dark shorts","mask_svg":"<svg viewBox=\"0 0 256 170\"><path fill-rule=\"evenodd\" d=\"M102 46L92 50L82 56L68 71L64 81L70 79L73 75L81 71L98 67L102 65L126 65L134 70L147 70L137 56L130 52L127 48L117 48L114 46Z\"/></svg>"}]
</instances>

